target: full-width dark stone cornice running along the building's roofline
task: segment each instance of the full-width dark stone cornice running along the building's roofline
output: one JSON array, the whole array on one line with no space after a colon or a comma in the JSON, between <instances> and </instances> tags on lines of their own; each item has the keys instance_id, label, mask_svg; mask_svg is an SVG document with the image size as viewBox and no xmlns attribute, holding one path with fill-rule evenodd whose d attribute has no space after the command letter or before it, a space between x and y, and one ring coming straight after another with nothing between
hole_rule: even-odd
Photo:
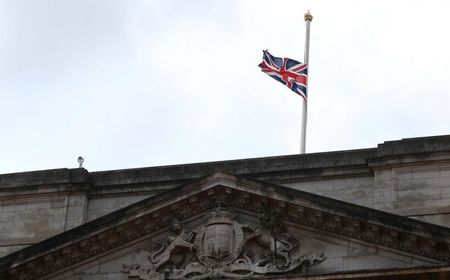
<instances>
[{"instance_id":1,"label":"full-width dark stone cornice running along the building's roofline","mask_svg":"<svg viewBox=\"0 0 450 280\"><path fill-rule=\"evenodd\" d=\"M372 176L391 166L450 162L450 135L387 141L377 148L242 160L88 172L54 169L0 175L0 197L42 192L82 191L89 195L152 194L213 172L273 183Z\"/></svg>"}]
</instances>

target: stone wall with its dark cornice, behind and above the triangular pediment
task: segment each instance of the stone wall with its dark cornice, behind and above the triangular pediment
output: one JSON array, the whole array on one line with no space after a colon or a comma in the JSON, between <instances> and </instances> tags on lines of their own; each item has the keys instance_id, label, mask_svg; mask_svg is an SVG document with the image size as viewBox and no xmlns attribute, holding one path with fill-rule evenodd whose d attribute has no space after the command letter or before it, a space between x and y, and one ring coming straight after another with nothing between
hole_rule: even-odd
<instances>
[{"instance_id":1,"label":"stone wall with its dark cornice, behind and above the triangular pediment","mask_svg":"<svg viewBox=\"0 0 450 280\"><path fill-rule=\"evenodd\" d=\"M216 171L450 226L450 136L439 136L329 153L0 175L0 257Z\"/></svg>"}]
</instances>

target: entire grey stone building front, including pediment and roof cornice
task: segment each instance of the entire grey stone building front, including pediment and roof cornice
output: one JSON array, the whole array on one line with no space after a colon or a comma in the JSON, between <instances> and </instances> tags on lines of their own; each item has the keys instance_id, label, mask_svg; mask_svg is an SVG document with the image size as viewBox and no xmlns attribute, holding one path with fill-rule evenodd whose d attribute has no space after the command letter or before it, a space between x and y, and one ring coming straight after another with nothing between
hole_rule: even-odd
<instances>
[{"instance_id":1,"label":"entire grey stone building front, including pediment and roof cornice","mask_svg":"<svg viewBox=\"0 0 450 280\"><path fill-rule=\"evenodd\" d=\"M0 175L0 279L450 279L450 136Z\"/></svg>"}]
</instances>

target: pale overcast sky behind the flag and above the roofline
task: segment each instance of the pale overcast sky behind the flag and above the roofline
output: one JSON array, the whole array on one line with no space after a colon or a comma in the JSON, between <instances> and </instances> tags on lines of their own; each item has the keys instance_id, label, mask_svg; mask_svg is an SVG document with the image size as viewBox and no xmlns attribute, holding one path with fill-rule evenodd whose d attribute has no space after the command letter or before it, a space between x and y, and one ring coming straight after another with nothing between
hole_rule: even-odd
<instances>
[{"instance_id":1,"label":"pale overcast sky behind the flag and above the roofline","mask_svg":"<svg viewBox=\"0 0 450 280\"><path fill-rule=\"evenodd\" d=\"M308 9L308 153L450 133L449 1L0 0L0 173L298 153Z\"/></svg>"}]
</instances>

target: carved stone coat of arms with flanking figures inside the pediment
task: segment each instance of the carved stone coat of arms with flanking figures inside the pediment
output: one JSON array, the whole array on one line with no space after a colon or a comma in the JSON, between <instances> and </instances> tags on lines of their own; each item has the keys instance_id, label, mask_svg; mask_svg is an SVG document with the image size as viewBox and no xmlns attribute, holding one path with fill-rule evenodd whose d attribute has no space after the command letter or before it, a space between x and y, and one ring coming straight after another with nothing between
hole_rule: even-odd
<instances>
[{"instance_id":1,"label":"carved stone coat of arms with flanking figures inside the pediment","mask_svg":"<svg viewBox=\"0 0 450 280\"><path fill-rule=\"evenodd\" d=\"M297 238L283 230L275 215L265 215L255 229L239 224L233 211L220 206L206 223L186 231L175 220L164 244L147 249L147 264L124 265L130 279L178 280L241 278L292 271L323 261L323 254L301 255Z\"/></svg>"}]
</instances>

